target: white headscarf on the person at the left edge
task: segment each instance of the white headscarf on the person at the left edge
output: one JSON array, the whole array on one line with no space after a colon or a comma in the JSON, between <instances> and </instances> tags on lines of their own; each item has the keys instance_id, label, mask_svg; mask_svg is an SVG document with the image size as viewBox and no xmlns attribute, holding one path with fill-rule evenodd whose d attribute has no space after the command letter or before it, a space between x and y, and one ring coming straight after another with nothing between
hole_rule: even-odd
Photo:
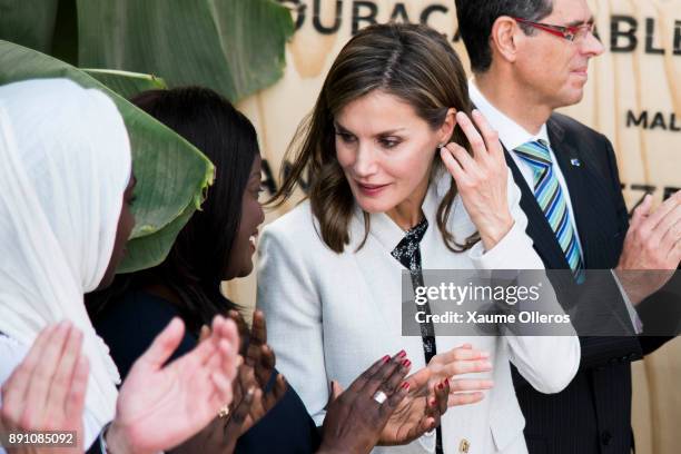
<instances>
[{"instance_id":1,"label":"white headscarf on the person at the left edge","mask_svg":"<svg viewBox=\"0 0 681 454\"><path fill-rule=\"evenodd\" d=\"M120 377L83 293L109 265L130 170L122 118L100 91L66 79L0 87L0 332L30 346L47 324L79 327L100 425Z\"/></svg>"}]
</instances>

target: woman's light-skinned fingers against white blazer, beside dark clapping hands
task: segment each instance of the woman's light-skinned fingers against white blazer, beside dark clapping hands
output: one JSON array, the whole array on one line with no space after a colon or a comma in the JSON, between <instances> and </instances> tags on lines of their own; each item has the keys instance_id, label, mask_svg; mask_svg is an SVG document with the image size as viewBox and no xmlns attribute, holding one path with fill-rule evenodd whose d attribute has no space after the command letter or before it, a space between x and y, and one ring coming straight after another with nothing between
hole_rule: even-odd
<instances>
[{"instance_id":1,"label":"woman's light-skinned fingers against white blazer, beside dark clapping hands","mask_svg":"<svg viewBox=\"0 0 681 454\"><path fill-rule=\"evenodd\" d=\"M481 378L454 378L457 375L492 371L490 355L473 349L471 344L452 348L435 355L427 365L431 371L431 383L448 379L448 406L475 404L484 398L484 391L492 388L494 382Z\"/></svg>"}]
</instances>

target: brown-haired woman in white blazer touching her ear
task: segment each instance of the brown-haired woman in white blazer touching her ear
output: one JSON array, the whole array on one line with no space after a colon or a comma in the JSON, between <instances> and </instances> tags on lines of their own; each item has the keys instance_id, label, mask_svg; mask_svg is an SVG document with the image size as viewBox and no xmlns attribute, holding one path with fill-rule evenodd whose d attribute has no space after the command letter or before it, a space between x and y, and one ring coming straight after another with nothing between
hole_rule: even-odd
<instances>
[{"instance_id":1,"label":"brown-haired woman in white blazer touching her ear","mask_svg":"<svg viewBox=\"0 0 681 454\"><path fill-rule=\"evenodd\" d=\"M404 348L413 369L434 373L442 353L462 344L487 352L488 365L446 369L490 371L452 383L465 392L491 379L482 401L468 395L480 402L450 408L437 432L377 453L525 453L509 361L544 393L564 388L579 367L573 336L402 335L404 269L423 279L422 269L543 268L495 132L473 112L478 134L463 112L465 73L440 33L411 24L361 31L294 141L293 171L275 200L288 198L305 169L308 198L261 235L257 304L277 366L317 424L329 381L347 386L386 352Z\"/></svg>"}]
</instances>

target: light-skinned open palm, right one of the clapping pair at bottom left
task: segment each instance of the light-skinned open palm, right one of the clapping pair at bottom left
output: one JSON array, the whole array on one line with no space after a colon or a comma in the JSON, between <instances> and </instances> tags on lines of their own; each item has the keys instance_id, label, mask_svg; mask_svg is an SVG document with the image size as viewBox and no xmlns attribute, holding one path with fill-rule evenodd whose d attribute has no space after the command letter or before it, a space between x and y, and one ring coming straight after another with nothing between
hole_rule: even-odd
<instances>
[{"instance_id":1,"label":"light-skinned open palm, right one of the clapping pair at bottom left","mask_svg":"<svg viewBox=\"0 0 681 454\"><path fill-rule=\"evenodd\" d=\"M184 325L174 319L134 364L118 397L107 443L116 453L155 453L198 433L233 399L239 337L217 316L210 337L166 365Z\"/></svg>"}]
</instances>

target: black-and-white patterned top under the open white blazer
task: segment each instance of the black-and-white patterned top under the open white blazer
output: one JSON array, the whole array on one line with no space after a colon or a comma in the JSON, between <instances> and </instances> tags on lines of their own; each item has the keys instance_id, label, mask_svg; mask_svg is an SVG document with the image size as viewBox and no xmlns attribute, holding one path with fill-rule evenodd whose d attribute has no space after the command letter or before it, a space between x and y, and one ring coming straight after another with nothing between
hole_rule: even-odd
<instances>
[{"instance_id":1,"label":"black-and-white patterned top under the open white blazer","mask_svg":"<svg viewBox=\"0 0 681 454\"><path fill-rule=\"evenodd\" d=\"M428 220L424 217L421 223L411 228L404 236L404 238L399 241L397 246L393 249L391 255L397 259L406 269L409 270L409 275L412 277L412 286L414 289L416 287L423 287L423 269L421 267L421 240L423 239L426 230L428 229ZM426 315L431 315L431 305L426 302L425 305L421 307L421 310L425 312ZM431 319L427 317L426 319ZM432 323L422 323L421 327L421 338L423 339L423 354L425 356L425 362L428 364L431 358L437 355L437 347L435 346L435 328ZM437 427L436 433L436 442L435 442L435 453L442 454L442 431Z\"/></svg>"}]
</instances>

